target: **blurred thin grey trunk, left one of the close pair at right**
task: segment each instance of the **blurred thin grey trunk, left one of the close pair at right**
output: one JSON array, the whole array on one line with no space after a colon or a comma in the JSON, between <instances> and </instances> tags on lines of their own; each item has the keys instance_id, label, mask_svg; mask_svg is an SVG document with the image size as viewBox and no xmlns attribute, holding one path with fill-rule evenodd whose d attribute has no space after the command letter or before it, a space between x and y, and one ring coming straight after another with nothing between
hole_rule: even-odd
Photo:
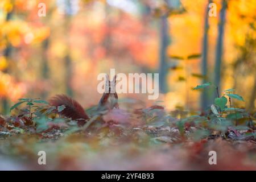
<instances>
[{"instance_id":1,"label":"blurred thin grey trunk, left one of the close pair at right","mask_svg":"<svg viewBox=\"0 0 256 182\"><path fill-rule=\"evenodd\" d=\"M212 0L209 0L207 3L207 9L205 11L205 18L204 18L204 38L203 38L203 50L202 50L202 64L201 64L201 73L204 76L203 77L203 82L207 82L207 73L208 73L208 68L207 68L207 56L208 56L208 30L209 30L209 3L212 3ZM201 94L201 110L205 110L205 108L208 105L208 94L207 94L207 89L203 89L202 94Z\"/></svg>"}]
</instances>

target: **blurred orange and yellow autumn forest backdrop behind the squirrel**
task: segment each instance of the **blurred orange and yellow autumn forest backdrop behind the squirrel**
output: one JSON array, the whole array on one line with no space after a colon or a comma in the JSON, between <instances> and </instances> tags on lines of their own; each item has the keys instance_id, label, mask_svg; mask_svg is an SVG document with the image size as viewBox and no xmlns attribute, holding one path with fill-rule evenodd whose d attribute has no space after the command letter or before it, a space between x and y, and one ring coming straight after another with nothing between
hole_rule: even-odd
<instances>
[{"instance_id":1,"label":"blurred orange and yellow autumn forest backdrop behind the squirrel","mask_svg":"<svg viewBox=\"0 0 256 182\"><path fill-rule=\"evenodd\" d=\"M46 5L46 16L39 16ZM214 11L216 16L209 16ZM213 9L212 9L213 8ZM159 73L168 110L203 110L216 90L234 88L255 109L255 0L1 0L0 109L18 98L65 93L96 105L97 75ZM152 102L146 94L119 98Z\"/></svg>"}]
</instances>

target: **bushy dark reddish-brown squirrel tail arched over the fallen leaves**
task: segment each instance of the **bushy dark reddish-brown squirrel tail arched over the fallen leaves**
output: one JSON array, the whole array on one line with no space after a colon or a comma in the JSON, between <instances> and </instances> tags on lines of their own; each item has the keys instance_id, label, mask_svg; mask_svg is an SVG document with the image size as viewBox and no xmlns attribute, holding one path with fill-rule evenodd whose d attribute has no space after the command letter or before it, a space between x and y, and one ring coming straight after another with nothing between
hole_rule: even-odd
<instances>
[{"instance_id":1,"label":"bushy dark reddish-brown squirrel tail arched over the fallen leaves","mask_svg":"<svg viewBox=\"0 0 256 182\"><path fill-rule=\"evenodd\" d=\"M62 95L56 95L51 97L49 100L49 105L51 106L61 106L64 105L65 109L60 112L61 115L65 117L75 119L89 119L88 115L85 113L82 106L76 100L73 100L71 97ZM79 121L80 125L83 125L85 121Z\"/></svg>"}]
</instances>

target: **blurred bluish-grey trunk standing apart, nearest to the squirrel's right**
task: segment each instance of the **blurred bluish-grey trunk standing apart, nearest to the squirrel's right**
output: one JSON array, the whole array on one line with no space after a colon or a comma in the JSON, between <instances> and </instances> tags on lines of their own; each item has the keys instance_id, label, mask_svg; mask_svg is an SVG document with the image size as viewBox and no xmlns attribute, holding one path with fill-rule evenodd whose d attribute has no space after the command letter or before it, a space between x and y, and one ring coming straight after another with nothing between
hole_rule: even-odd
<instances>
[{"instance_id":1,"label":"blurred bluish-grey trunk standing apart, nearest to the squirrel's right","mask_svg":"<svg viewBox=\"0 0 256 182\"><path fill-rule=\"evenodd\" d=\"M167 15L163 15L160 19L160 67L159 67L159 86L160 92L167 92L167 63L166 63L166 52L168 47L168 20Z\"/></svg>"}]
</instances>

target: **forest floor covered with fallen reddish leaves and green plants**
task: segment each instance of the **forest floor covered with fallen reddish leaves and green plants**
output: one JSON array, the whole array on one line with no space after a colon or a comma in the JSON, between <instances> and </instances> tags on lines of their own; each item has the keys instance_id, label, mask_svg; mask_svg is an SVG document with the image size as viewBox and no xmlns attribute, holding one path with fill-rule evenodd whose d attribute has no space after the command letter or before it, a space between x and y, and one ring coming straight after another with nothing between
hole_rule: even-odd
<instances>
[{"instance_id":1,"label":"forest floor covered with fallen reddish leaves and green plants","mask_svg":"<svg viewBox=\"0 0 256 182\"><path fill-rule=\"evenodd\" d=\"M243 109L234 117L230 109L220 116L159 105L105 113L92 107L80 127L61 117L62 106L20 102L0 118L1 170L256 170L255 116Z\"/></svg>"}]
</instances>

